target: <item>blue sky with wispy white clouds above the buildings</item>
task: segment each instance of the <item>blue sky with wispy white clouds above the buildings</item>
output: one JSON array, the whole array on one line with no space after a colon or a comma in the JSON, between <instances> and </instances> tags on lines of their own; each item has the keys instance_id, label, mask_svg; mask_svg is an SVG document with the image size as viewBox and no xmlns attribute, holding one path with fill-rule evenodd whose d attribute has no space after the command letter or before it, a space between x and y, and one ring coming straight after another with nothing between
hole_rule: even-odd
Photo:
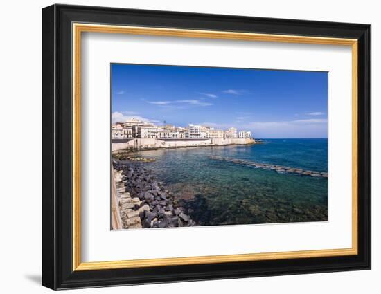
<instances>
[{"instance_id":1,"label":"blue sky with wispy white clouds above the buildings","mask_svg":"<svg viewBox=\"0 0 381 294\"><path fill-rule=\"evenodd\" d=\"M328 73L112 64L112 121L327 138Z\"/></svg>"}]
</instances>

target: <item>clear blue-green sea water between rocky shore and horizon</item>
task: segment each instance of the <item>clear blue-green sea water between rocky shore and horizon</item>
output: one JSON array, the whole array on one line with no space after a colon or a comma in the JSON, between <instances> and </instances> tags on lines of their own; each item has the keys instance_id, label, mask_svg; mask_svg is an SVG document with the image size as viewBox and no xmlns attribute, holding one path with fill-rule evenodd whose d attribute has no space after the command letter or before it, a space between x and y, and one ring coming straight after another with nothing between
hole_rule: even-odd
<instances>
[{"instance_id":1,"label":"clear blue-green sea water between rocky shore and horizon","mask_svg":"<svg viewBox=\"0 0 381 294\"><path fill-rule=\"evenodd\" d=\"M213 160L238 158L327 172L326 139L267 139L260 145L141 151L145 167L166 182L200 226L327 221L326 178Z\"/></svg>"}]
</instances>

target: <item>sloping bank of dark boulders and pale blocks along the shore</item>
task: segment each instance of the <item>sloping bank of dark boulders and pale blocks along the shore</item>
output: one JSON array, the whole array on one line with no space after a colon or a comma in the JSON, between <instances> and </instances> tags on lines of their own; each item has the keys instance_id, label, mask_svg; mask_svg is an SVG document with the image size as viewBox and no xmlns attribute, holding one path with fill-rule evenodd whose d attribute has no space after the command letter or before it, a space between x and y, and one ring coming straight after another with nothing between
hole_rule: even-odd
<instances>
[{"instance_id":1,"label":"sloping bank of dark boulders and pale blocks along the shore","mask_svg":"<svg viewBox=\"0 0 381 294\"><path fill-rule=\"evenodd\" d=\"M112 160L123 228L194 226L195 222L184 208L177 205L165 185L142 166L143 162L145 160Z\"/></svg>"}]
</instances>

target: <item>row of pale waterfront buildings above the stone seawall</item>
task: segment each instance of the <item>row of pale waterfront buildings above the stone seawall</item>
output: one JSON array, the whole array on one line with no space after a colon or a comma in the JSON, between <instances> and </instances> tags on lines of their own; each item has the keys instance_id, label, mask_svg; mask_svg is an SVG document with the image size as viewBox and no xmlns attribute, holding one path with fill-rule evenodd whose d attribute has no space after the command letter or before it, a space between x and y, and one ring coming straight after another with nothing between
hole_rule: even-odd
<instances>
[{"instance_id":1,"label":"row of pale waterfront buildings above the stone seawall","mask_svg":"<svg viewBox=\"0 0 381 294\"><path fill-rule=\"evenodd\" d=\"M227 130L214 129L202 125L175 127L173 125L157 126L152 122L143 122L131 118L126 122L112 125L112 139L154 138L154 139L208 139L208 138L251 138L250 131L237 131L231 127Z\"/></svg>"}]
</instances>

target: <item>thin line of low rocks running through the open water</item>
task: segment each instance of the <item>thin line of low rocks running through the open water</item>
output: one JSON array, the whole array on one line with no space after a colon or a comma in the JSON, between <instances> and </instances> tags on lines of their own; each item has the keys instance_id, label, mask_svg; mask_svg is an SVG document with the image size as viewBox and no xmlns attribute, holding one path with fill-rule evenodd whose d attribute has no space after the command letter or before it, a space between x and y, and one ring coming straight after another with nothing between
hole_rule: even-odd
<instances>
[{"instance_id":1,"label":"thin line of low rocks running through the open water","mask_svg":"<svg viewBox=\"0 0 381 294\"><path fill-rule=\"evenodd\" d=\"M328 173L326 173L326 172L316 172L316 171L305 170L305 169L301 169L301 168L284 167L282 165L270 165L267 163L256 163L254 161L248 161L248 160L242 160L242 159L236 159L236 158L220 157L220 156L210 156L210 158L213 160L227 161L229 163L238 163L240 165L248 165L250 167L274 170L275 172L278 172L279 174L299 174L300 176L312 176L312 177L319 177L319 178L328 178Z\"/></svg>"}]
</instances>

